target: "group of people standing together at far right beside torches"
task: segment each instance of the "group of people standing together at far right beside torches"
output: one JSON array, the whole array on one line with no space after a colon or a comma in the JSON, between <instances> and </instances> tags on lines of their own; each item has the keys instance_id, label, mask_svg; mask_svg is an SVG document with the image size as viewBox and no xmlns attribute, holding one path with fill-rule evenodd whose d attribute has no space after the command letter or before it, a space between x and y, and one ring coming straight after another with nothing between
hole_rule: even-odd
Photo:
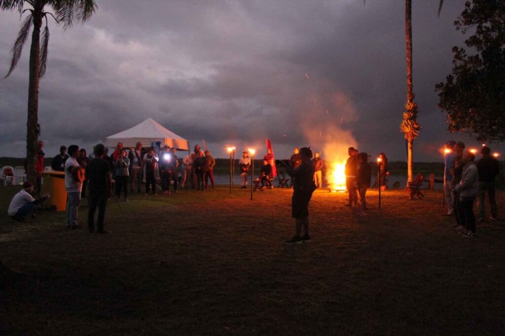
<instances>
[{"instance_id":1,"label":"group of people standing together at far right beside torches","mask_svg":"<svg viewBox=\"0 0 505 336\"><path fill-rule=\"evenodd\" d=\"M490 206L490 220L496 220L497 206L494 183L499 174L499 164L491 155L491 149L483 146L481 158L475 162L475 154L465 151L461 141L447 141L444 159L444 197L447 215L454 216L453 227L466 237L474 237L476 222L484 221L485 196ZM478 218L475 218L474 201L478 197Z\"/></svg>"}]
</instances>

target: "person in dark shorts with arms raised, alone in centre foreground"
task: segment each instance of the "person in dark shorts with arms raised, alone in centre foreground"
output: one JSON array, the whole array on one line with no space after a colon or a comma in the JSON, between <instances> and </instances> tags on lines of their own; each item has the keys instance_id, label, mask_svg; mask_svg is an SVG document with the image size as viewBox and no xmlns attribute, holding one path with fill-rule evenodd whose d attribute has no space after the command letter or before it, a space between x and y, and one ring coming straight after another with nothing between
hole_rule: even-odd
<instances>
[{"instance_id":1,"label":"person in dark shorts with arms raised, alone in centre foreground","mask_svg":"<svg viewBox=\"0 0 505 336\"><path fill-rule=\"evenodd\" d=\"M299 151L300 164L296 168L285 164L284 161L279 161L284 165L286 173L293 179L293 196L291 198L291 216L295 219L295 235L286 244L300 244L301 242L309 242L309 202L312 198L312 193L316 190L314 184L314 163L312 162L312 150L303 147ZM301 235L301 227L304 227L305 234Z\"/></svg>"}]
</instances>

